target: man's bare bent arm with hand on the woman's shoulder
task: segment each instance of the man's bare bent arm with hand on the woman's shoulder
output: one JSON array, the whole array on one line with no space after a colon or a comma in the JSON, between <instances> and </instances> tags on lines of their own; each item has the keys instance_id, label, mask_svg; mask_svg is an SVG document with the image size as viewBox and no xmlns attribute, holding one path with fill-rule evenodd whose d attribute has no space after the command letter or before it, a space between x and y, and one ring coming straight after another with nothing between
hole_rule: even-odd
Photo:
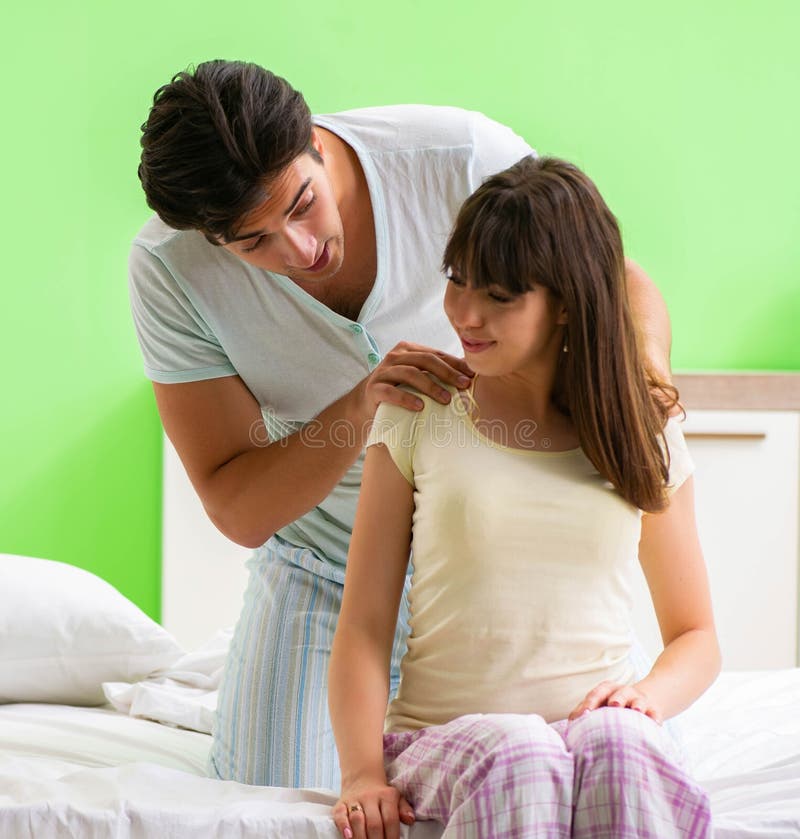
<instances>
[{"instance_id":1,"label":"man's bare bent arm with hand on the woman's shoulder","mask_svg":"<svg viewBox=\"0 0 800 839\"><path fill-rule=\"evenodd\" d=\"M363 449L380 402L422 407L396 385L445 402L449 393L429 374L464 387L468 380L459 376L467 371L446 353L399 344L304 429L271 443L258 402L238 376L153 388L164 430L209 518L232 541L255 548L331 492Z\"/></svg>"}]
</instances>

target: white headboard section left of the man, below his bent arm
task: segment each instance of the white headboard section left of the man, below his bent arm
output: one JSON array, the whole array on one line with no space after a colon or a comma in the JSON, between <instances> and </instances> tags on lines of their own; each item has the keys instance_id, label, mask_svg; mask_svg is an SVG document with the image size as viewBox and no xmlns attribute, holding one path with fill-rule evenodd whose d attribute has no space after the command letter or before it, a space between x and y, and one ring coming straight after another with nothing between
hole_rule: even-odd
<instances>
[{"instance_id":1,"label":"white headboard section left of the man, below his bent arm","mask_svg":"<svg viewBox=\"0 0 800 839\"><path fill-rule=\"evenodd\" d=\"M211 524L166 436L163 489L161 621L194 650L236 623L253 552Z\"/></svg>"}]
</instances>

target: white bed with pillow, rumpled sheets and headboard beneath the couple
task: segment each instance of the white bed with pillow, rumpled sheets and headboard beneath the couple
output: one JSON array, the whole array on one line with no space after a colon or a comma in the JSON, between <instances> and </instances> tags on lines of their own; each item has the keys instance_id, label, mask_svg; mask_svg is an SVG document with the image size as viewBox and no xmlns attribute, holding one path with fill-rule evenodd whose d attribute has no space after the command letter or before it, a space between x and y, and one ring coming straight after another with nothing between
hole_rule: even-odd
<instances>
[{"instance_id":1,"label":"white bed with pillow, rumpled sheets and headboard beneath the couple","mask_svg":"<svg viewBox=\"0 0 800 839\"><path fill-rule=\"evenodd\" d=\"M235 618L247 552L211 529L166 454L170 632L84 571L0 555L0 839L335 839L331 790L204 777L230 637L207 616ZM716 839L800 837L799 668L723 673L679 725Z\"/></svg>"}]
</instances>

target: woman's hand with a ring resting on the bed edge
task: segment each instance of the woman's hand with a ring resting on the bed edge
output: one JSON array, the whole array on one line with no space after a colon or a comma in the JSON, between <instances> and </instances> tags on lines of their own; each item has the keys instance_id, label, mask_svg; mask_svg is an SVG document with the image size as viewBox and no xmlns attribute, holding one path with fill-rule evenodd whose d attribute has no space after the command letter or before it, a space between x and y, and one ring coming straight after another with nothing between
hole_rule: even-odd
<instances>
[{"instance_id":1,"label":"woman's hand with a ring resting on the bed edge","mask_svg":"<svg viewBox=\"0 0 800 839\"><path fill-rule=\"evenodd\" d=\"M414 823L414 811L389 784L350 784L333 808L333 820L344 839L399 839L400 822Z\"/></svg>"}]
</instances>

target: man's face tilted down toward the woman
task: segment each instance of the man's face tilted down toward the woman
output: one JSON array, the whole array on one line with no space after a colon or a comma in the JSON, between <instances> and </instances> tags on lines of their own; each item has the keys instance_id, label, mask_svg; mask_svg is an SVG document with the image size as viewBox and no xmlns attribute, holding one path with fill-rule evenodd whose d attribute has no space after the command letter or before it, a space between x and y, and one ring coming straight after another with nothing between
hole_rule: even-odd
<instances>
[{"instance_id":1,"label":"man's face tilted down toward the woman","mask_svg":"<svg viewBox=\"0 0 800 839\"><path fill-rule=\"evenodd\" d=\"M269 185L269 197L242 219L223 247L295 281L332 277L344 260L344 228L328 173L301 154Z\"/></svg>"}]
</instances>

